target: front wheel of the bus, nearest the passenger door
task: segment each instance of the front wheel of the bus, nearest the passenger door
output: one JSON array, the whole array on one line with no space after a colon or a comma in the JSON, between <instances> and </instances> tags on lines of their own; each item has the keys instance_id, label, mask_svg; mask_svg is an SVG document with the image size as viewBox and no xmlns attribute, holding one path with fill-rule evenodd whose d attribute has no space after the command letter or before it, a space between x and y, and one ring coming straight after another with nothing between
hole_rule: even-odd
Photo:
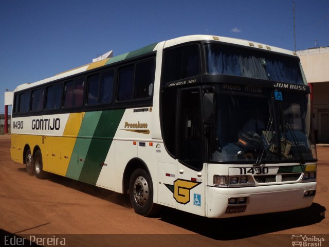
<instances>
[{"instance_id":1,"label":"front wheel of the bus, nearest the passenger door","mask_svg":"<svg viewBox=\"0 0 329 247\"><path fill-rule=\"evenodd\" d=\"M130 202L137 214L151 216L154 214L153 186L150 175L143 169L136 169L129 182Z\"/></svg>"}]
</instances>

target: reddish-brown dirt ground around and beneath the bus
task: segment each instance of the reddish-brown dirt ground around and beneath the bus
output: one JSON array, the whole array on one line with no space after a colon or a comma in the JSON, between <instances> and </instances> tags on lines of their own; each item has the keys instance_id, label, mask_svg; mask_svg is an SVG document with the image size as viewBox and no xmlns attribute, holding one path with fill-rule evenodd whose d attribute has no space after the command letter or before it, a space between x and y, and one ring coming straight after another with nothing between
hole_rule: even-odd
<instances>
[{"instance_id":1,"label":"reddish-brown dirt ground around and beneath the bus","mask_svg":"<svg viewBox=\"0 0 329 247\"><path fill-rule=\"evenodd\" d=\"M158 247L292 246L292 235L306 235L322 236L325 241L320 246L329 246L329 220L325 217L329 147L317 147L318 187L312 206L219 220L169 208L157 217L139 216L118 193L57 175L47 180L29 176L24 165L11 161L9 148L10 135L0 136L0 246L13 246L9 240L18 245L20 237L31 235L58 240L55 246L61 246L64 238L66 246ZM54 246L51 241L40 241Z\"/></svg>"}]
</instances>

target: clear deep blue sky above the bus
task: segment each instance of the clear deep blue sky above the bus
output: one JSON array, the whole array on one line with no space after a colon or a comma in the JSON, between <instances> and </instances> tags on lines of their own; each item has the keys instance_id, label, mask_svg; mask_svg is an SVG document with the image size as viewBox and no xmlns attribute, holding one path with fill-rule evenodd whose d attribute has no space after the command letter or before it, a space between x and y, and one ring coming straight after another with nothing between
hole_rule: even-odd
<instances>
[{"instance_id":1,"label":"clear deep blue sky above the bus","mask_svg":"<svg viewBox=\"0 0 329 247\"><path fill-rule=\"evenodd\" d=\"M329 46L329 0L0 0L0 113L6 88L190 34L289 50ZM11 108L10 108L11 110Z\"/></svg>"}]
</instances>

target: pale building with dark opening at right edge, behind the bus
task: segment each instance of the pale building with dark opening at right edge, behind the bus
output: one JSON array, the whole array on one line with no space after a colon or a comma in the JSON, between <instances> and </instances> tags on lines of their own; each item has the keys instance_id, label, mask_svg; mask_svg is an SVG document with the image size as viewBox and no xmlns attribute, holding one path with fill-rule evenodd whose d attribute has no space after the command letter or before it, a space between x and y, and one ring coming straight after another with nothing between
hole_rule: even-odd
<instances>
[{"instance_id":1,"label":"pale building with dark opening at right edge, behind the bus","mask_svg":"<svg viewBox=\"0 0 329 247\"><path fill-rule=\"evenodd\" d=\"M317 143L329 143L329 47L297 51L312 90Z\"/></svg>"}]
</instances>

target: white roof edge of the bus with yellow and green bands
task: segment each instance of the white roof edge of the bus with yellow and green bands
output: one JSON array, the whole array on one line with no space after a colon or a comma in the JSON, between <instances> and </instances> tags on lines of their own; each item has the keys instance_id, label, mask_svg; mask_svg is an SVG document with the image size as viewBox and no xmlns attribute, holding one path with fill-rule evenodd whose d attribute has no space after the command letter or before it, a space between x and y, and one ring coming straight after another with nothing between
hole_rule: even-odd
<instances>
[{"instance_id":1,"label":"white roof edge of the bus with yellow and green bands","mask_svg":"<svg viewBox=\"0 0 329 247\"><path fill-rule=\"evenodd\" d=\"M241 45L241 46L246 46L246 47L253 47L253 48L260 49L260 50L274 51L274 52L279 52L281 54L286 54L286 55L297 57L296 52L278 48L275 46L269 46L266 44L261 44L261 43L248 41L248 40L221 37L221 36L210 36L210 35L190 35L190 36L184 36L184 37L167 40L164 42L163 48L168 48L168 47L179 45L182 43L193 42L193 41L203 41L203 40L211 40L211 41L215 41L215 42L217 41L220 43L236 44L236 45ZM127 53L119 55L119 56L115 56L113 58L107 58L107 59L104 59L101 61L97 61L97 62L89 63L89 64L86 64L86 65L83 65L80 67L73 68L73 69L67 70L65 72L62 72L60 74L54 75L52 77L49 77L49 78L46 78L46 79L43 79L40 81L36 81L33 83L24 83L24 84L17 86L16 89L14 90L14 92L28 89L30 87L33 87L36 85L41 85L41 84L44 84L44 83L47 83L50 81L62 79L62 78L65 78L65 77L68 77L71 75L79 74L79 73L85 72L90 69L94 69L94 68L101 67L104 65L119 62L119 61L122 61L125 59L130 59L130 58L137 57L137 56L140 56L143 54L147 54L149 52L157 50L158 45L159 45L159 43L154 43L154 44L142 47L140 49L130 51L130 52L127 52Z\"/></svg>"}]
</instances>

